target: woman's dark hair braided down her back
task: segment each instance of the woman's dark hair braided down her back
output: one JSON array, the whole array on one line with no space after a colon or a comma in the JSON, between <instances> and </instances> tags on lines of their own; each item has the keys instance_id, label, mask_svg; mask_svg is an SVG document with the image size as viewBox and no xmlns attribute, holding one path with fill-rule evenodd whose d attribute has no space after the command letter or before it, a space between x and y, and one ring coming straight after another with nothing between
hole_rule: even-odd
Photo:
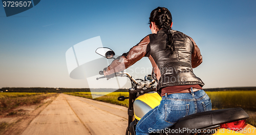
<instances>
[{"instance_id":1,"label":"woman's dark hair braided down her back","mask_svg":"<svg viewBox=\"0 0 256 135\"><path fill-rule=\"evenodd\" d=\"M175 51L174 41L173 41L173 31L170 27L172 25L172 14L167 8L157 7L150 14L150 22L155 22L155 25L158 30L164 29L167 30L166 37L166 49L170 50L170 54L172 55Z\"/></svg>"}]
</instances>

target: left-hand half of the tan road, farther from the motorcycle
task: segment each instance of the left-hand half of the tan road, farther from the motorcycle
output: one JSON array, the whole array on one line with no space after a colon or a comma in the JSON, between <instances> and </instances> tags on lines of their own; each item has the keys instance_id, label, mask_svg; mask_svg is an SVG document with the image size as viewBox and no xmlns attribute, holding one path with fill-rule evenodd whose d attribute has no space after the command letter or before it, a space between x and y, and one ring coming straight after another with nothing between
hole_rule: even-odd
<instances>
[{"instance_id":1,"label":"left-hand half of the tan road, farther from the motorcycle","mask_svg":"<svg viewBox=\"0 0 256 135\"><path fill-rule=\"evenodd\" d=\"M22 135L80 135L90 133L67 102L64 94L49 104L32 120Z\"/></svg>"}]
</instances>

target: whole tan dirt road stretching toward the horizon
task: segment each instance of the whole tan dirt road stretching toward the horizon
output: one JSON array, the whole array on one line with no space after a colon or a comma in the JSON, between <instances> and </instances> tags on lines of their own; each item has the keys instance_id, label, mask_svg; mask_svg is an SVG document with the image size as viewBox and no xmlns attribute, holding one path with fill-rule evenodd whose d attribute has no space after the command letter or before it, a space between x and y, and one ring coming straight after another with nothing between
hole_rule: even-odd
<instances>
[{"instance_id":1,"label":"whole tan dirt road stretching toward the horizon","mask_svg":"<svg viewBox=\"0 0 256 135\"><path fill-rule=\"evenodd\" d=\"M60 94L29 124L30 134L125 134L127 108Z\"/></svg>"}]
</instances>

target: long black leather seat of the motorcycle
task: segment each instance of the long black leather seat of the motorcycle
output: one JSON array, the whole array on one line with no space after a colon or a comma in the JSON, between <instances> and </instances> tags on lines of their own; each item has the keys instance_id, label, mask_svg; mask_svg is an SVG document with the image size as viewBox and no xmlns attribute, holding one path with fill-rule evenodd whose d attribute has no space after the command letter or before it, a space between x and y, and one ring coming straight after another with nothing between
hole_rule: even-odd
<instances>
[{"instance_id":1,"label":"long black leather seat of the motorcycle","mask_svg":"<svg viewBox=\"0 0 256 135\"><path fill-rule=\"evenodd\" d=\"M248 114L242 108L217 109L183 117L170 129L203 129L248 118Z\"/></svg>"}]
</instances>

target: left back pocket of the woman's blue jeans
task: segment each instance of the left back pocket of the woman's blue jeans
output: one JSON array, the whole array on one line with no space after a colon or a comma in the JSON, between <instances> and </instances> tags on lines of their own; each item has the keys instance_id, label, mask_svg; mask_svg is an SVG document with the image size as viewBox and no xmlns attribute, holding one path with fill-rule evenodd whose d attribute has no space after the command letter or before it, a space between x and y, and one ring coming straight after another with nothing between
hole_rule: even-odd
<instances>
[{"instance_id":1,"label":"left back pocket of the woman's blue jeans","mask_svg":"<svg viewBox=\"0 0 256 135\"><path fill-rule=\"evenodd\" d=\"M180 118L188 115L189 104L185 105L164 105L164 121L168 123L176 123Z\"/></svg>"}]
</instances>

